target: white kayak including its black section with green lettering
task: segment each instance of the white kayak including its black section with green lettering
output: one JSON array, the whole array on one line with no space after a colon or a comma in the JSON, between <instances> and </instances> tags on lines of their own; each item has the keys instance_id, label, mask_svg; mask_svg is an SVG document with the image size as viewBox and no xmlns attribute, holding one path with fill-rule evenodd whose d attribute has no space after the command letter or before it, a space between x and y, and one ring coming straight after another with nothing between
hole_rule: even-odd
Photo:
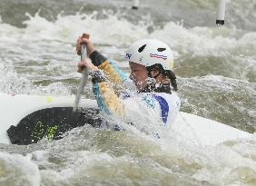
<instances>
[{"instance_id":1,"label":"white kayak including its black section with green lettering","mask_svg":"<svg viewBox=\"0 0 256 186\"><path fill-rule=\"evenodd\" d=\"M82 99L81 109L74 113L74 99L74 96L0 93L0 143L26 145L43 138L58 140L64 137L65 132L84 124L100 127L103 120L96 101ZM250 139L252 136L221 122L182 112L171 129L182 139L202 146Z\"/></svg>"}]
</instances>

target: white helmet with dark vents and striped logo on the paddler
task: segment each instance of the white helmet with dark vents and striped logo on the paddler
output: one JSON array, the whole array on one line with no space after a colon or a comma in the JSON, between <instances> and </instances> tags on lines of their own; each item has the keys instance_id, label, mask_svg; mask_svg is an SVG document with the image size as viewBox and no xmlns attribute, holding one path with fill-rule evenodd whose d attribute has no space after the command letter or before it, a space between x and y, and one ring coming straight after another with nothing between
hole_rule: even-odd
<instances>
[{"instance_id":1,"label":"white helmet with dark vents and striped logo on the paddler","mask_svg":"<svg viewBox=\"0 0 256 186\"><path fill-rule=\"evenodd\" d=\"M171 48L154 39L143 39L131 44L125 59L144 66L162 64L163 70L172 70L174 64Z\"/></svg>"}]
</instances>

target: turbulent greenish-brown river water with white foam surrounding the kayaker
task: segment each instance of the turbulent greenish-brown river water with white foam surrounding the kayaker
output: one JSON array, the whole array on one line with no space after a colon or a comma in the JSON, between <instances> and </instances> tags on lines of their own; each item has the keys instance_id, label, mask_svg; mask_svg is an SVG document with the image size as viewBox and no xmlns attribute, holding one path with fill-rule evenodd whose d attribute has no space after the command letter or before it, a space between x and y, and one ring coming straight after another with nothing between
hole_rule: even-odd
<instances>
[{"instance_id":1,"label":"turbulent greenish-brown river water with white foam surrounding the kayaker","mask_svg":"<svg viewBox=\"0 0 256 186\"><path fill-rule=\"evenodd\" d=\"M75 93L74 44L84 32L127 73L129 44L156 38L174 51L183 112L254 133L256 1L227 1L222 27L215 25L217 4L143 0L135 11L128 0L1 0L0 93ZM89 88L86 96L93 98ZM59 141L0 144L0 185L253 186L254 139L201 148L175 136L84 126Z\"/></svg>"}]
</instances>

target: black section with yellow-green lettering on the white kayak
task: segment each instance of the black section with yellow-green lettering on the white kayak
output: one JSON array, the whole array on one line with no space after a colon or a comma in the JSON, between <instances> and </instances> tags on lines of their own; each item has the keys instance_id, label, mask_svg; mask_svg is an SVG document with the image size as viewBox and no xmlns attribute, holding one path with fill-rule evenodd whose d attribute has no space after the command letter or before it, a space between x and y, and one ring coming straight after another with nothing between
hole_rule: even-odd
<instances>
[{"instance_id":1,"label":"black section with yellow-green lettering on the white kayak","mask_svg":"<svg viewBox=\"0 0 256 186\"><path fill-rule=\"evenodd\" d=\"M16 126L12 125L7 133L13 144L27 145L43 138L58 140L64 137L64 132L75 127L84 124L100 127L101 123L98 109L87 108L73 113L73 107L54 107L30 113Z\"/></svg>"}]
</instances>

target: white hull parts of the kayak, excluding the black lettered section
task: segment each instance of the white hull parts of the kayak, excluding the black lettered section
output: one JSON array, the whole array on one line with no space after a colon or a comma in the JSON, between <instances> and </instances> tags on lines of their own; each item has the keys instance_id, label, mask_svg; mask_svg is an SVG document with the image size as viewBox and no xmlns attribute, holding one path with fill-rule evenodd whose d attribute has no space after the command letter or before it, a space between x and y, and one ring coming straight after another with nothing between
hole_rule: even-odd
<instances>
[{"instance_id":1,"label":"white hull parts of the kayak, excluding the black lettered section","mask_svg":"<svg viewBox=\"0 0 256 186\"><path fill-rule=\"evenodd\" d=\"M0 143L9 144L7 130L17 125L26 115L45 108L73 107L74 96L10 95L0 93ZM81 107L97 108L95 100L82 99ZM231 126L214 122L190 113L180 112L172 125L174 132L190 142L199 145L216 145L226 141L249 139L252 134Z\"/></svg>"}]
</instances>

